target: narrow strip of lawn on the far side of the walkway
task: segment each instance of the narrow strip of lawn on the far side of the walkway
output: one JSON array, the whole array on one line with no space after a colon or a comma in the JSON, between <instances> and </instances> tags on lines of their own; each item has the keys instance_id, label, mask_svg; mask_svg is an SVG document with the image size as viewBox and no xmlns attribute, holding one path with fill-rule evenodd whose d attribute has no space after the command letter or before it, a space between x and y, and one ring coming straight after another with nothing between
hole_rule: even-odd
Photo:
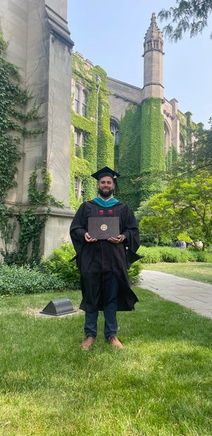
<instances>
[{"instance_id":1,"label":"narrow strip of lawn on the far side of the walkway","mask_svg":"<svg viewBox=\"0 0 212 436\"><path fill-rule=\"evenodd\" d=\"M143 269L174 274L174 276L191 278L212 285L212 264L204 262L187 262L186 264L145 264Z\"/></svg>"}]
</instances>

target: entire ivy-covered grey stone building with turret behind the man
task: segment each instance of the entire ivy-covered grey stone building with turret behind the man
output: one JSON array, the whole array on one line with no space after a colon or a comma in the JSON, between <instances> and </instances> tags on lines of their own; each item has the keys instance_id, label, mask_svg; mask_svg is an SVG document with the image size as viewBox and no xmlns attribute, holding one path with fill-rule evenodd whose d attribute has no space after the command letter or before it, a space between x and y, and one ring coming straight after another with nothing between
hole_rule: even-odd
<instances>
[{"instance_id":1,"label":"entire ivy-covered grey stone building with turret behind the man","mask_svg":"<svg viewBox=\"0 0 212 436\"><path fill-rule=\"evenodd\" d=\"M0 25L9 42L6 56L40 102L47 126L44 134L21 138L17 186L6 202L24 211L29 177L35 167L39 172L46 165L51 193L64 208L52 206L41 241L45 256L69 240L73 211L95 195L91 172L105 165L120 170L122 192L126 185L129 188L124 200L130 204L134 199L135 209L141 199L135 181L145 172L146 162L151 171L164 170L170 149L181 151L182 126L192 122L189 112L178 110L175 98L165 98L163 35L154 13L144 38L142 89L107 77L100 66L73 53L66 19L67 0L1 0ZM38 213L45 216L45 208Z\"/></svg>"}]
</instances>

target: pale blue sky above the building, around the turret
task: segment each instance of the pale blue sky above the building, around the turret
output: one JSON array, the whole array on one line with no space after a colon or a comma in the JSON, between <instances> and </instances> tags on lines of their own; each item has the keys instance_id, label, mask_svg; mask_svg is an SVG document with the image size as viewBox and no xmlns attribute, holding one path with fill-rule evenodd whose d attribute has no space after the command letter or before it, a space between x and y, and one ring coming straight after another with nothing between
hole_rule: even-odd
<instances>
[{"instance_id":1,"label":"pale blue sky above the building, around the turret","mask_svg":"<svg viewBox=\"0 0 212 436\"><path fill-rule=\"evenodd\" d=\"M143 88L143 40L152 13L176 6L175 0L68 0L73 51L80 52L107 76ZM165 20L157 18L163 31ZM212 117L212 16L208 28L179 42L163 36L163 86L167 100L176 98L181 112L209 128Z\"/></svg>"}]
</instances>

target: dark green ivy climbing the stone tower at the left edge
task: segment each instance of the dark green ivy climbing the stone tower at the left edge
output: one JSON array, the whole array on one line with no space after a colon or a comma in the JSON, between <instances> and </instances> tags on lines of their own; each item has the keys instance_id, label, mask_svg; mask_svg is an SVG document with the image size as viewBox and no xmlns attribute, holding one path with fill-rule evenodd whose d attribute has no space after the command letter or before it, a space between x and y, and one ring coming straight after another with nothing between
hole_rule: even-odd
<instances>
[{"instance_id":1,"label":"dark green ivy climbing the stone tower at the left edge","mask_svg":"<svg viewBox=\"0 0 212 436\"><path fill-rule=\"evenodd\" d=\"M23 88L18 68L1 56L8 43L4 41L0 30L0 231L3 247L1 254L8 263L37 264L40 261L40 235L49 217L51 204L57 204L49 194L51 178L46 168L42 168L42 189L37 189L37 170L30 175L28 199L30 206L23 212L8 208L6 195L16 185L15 175L18 171L18 160L22 157L19 149L21 136L36 136L45 131L45 126L28 129L27 123L38 122L41 118L40 106L33 104L26 110L28 102L33 98ZM43 216L37 213L38 206L46 206ZM14 232L19 225L16 247L10 252L14 242ZM32 244L31 255L28 256L29 244Z\"/></svg>"}]
</instances>

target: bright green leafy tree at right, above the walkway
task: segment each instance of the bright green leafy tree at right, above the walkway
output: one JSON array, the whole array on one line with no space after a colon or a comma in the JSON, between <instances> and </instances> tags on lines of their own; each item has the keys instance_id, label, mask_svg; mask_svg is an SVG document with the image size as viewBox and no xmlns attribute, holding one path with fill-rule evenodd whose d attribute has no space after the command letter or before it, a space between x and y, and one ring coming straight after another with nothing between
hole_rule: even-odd
<instances>
[{"instance_id":1,"label":"bright green leafy tree at right, above the walkway","mask_svg":"<svg viewBox=\"0 0 212 436\"><path fill-rule=\"evenodd\" d=\"M152 216L143 217L141 233L148 232L160 240L175 240L186 233L191 240L203 242L203 249L212 242L212 176L203 171L188 179L175 179L162 194L148 204ZM153 215L156 218L153 219Z\"/></svg>"}]
</instances>

